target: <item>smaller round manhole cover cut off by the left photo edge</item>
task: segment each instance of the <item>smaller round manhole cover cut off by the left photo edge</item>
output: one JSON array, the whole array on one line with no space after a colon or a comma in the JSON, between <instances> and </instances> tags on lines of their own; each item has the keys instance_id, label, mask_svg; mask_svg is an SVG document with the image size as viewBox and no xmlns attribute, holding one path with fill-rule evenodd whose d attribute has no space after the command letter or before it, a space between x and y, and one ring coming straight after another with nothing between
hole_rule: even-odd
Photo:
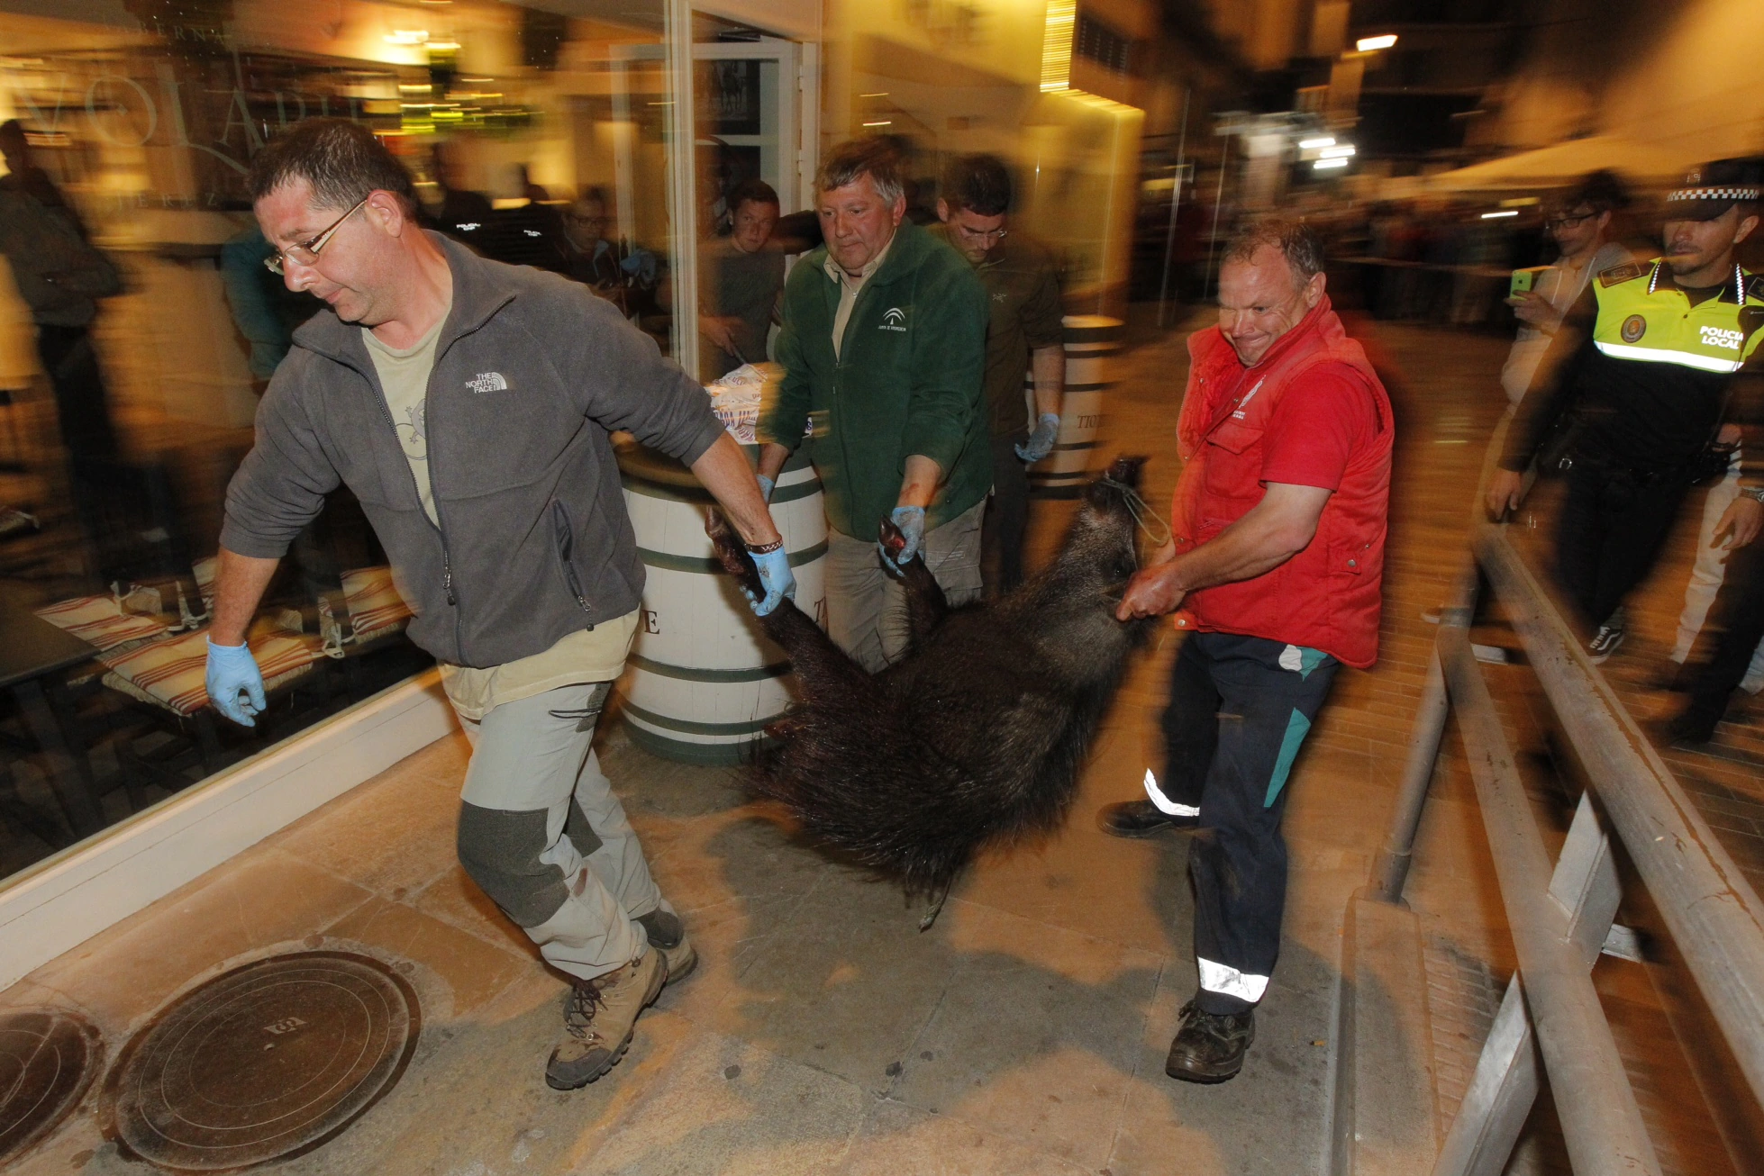
<instances>
[{"instance_id":1,"label":"smaller round manhole cover cut off by the left photo edge","mask_svg":"<svg viewBox=\"0 0 1764 1176\"><path fill-rule=\"evenodd\" d=\"M99 1068L99 1031L71 1012L0 1016L0 1164L79 1105Z\"/></svg>"}]
</instances>

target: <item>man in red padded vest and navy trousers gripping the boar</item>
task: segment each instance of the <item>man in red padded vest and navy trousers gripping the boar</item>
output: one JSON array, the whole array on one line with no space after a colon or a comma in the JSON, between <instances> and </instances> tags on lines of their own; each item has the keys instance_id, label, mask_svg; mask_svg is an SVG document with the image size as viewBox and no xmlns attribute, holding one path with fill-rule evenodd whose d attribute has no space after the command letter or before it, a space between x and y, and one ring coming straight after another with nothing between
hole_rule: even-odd
<instances>
[{"instance_id":1,"label":"man in red padded vest and navy trousers gripping the boar","mask_svg":"<svg viewBox=\"0 0 1764 1176\"><path fill-rule=\"evenodd\" d=\"M1198 827L1194 956L1164 1072L1235 1077L1281 950L1286 779L1335 670L1378 658L1390 398L1323 293L1323 247L1295 220L1231 238L1219 326L1189 339L1177 421L1187 465L1175 538L1117 615L1187 633L1164 711L1164 779L1108 806L1104 832Z\"/></svg>"}]
</instances>

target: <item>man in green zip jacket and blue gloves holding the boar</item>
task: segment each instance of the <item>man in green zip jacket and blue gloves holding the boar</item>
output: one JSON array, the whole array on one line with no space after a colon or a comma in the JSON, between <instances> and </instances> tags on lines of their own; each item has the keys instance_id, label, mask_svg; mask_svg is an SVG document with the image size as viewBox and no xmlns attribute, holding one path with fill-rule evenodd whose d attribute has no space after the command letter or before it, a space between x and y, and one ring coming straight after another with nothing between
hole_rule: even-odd
<instances>
[{"instance_id":1,"label":"man in green zip jacket and blue gloves holding the boar","mask_svg":"<svg viewBox=\"0 0 1764 1176\"><path fill-rule=\"evenodd\" d=\"M961 254L903 219L887 145L833 148L815 189L826 245L785 282L785 377L760 420L760 488L810 446L827 495L827 635L875 672L907 636L882 520L907 536L901 559L924 554L951 605L981 592L986 293Z\"/></svg>"}]
</instances>

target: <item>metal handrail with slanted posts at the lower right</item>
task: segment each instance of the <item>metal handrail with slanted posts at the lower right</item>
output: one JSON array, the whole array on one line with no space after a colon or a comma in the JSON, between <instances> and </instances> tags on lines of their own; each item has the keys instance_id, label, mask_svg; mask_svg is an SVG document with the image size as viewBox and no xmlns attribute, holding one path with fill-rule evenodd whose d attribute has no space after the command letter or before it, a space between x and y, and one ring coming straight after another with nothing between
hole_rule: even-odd
<instances>
[{"instance_id":1,"label":"metal handrail with slanted posts at the lower right","mask_svg":"<svg viewBox=\"0 0 1764 1176\"><path fill-rule=\"evenodd\" d=\"M1480 494L1478 494L1480 499ZM1709 830L1621 698L1496 524L1473 524L1466 561L1441 610L1439 636L1409 737L1390 834L1355 901L1401 906L1446 716L1457 714L1494 855L1519 970L1476 1063L1434 1176L1505 1169L1536 1095L1536 1054L1551 1077L1573 1171L1656 1174L1653 1144L1618 1054L1589 966L1621 896L1605 816L1702 991L1755 1098L1764 1102L1764 904ZM1503 603L1544 695L1591 778L1561 860L1551 869L1501 719L1469 645L1480 577ZM1349 904L1349 922L1355 906ZM1413 915L1409 915L1413 919ZM1344 971L1348 961L1344 957ZM1344 1049L1358 1049L1342 1001ZM1535 1051L1535 1053L1533 1053ZM1342 1067L1339 1076L1348 1076ZM1334 1171L1358 1169L1358 1097L1337 1081ZM1346 1095L1346 1111L1342 1098ZM1342 1118L1344 1116L1344 1118ZM1374 1167L1376 1158L1372 1160ZM1404 1169L1408 1171L1408 1169Z\"/></svg>"}]
</instances>

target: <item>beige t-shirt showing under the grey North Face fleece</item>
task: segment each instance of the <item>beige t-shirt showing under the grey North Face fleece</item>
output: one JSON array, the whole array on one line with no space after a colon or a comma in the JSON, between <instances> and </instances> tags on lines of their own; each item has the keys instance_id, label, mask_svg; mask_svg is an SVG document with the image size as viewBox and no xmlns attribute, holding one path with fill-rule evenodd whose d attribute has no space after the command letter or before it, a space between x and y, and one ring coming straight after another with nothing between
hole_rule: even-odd
<instances>
[{"instance_id":1,"label":"beige t-shirt showing under the grey North Face fleece","mask_svg":"<svg viewBox=\"0 0 1764 1176\"><path fill-rule=\"evenodd\" d=\"M445 321L443 312L441 323ZM374 331L362 328L367 354L374 358L374 370L379 372L386 407L392 409L392 423L399 430L399 444L404 446L404 460L416 474L416 495L422 499L423 513L437 527L441 518L436 515L434 488L429 483L429 428L423 409L429 402L429 374L436 363L441 323L418 339L415 347L406 349L388 347L374 337ZM624 668L624 654L630 652L635 633L633 608L593 629L566 633L545 652L519 661L483 668L443 661L441 686L459 716L476 723L505 702L519 702L579 682L610 682Z\"/></svg>"}]
</instances>

